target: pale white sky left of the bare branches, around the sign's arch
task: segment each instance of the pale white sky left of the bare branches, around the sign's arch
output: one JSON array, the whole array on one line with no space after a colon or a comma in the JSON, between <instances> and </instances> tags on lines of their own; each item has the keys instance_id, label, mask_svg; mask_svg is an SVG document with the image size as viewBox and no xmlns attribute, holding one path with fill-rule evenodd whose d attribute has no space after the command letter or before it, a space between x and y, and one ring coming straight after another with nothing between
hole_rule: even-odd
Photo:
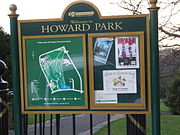
<instances>
[{"instance_id":1,"label":"pale white sky left of the bare branches, around the sign's arch","mask_svg":"<svg viewBox=\"0 0 180 135\"><path fill-rule=\"evenodd\" d=\"M18 20L61 18L64 9L75 0L0 0L0 26L10 33L9 6L17 6ZM100 10L103 16L120 14L117 5L110 4L118 0L88 0ZM102 6L103 1L103 6ZM104 10L106 9L106 10Z\"/></svg>"}]
</instances>

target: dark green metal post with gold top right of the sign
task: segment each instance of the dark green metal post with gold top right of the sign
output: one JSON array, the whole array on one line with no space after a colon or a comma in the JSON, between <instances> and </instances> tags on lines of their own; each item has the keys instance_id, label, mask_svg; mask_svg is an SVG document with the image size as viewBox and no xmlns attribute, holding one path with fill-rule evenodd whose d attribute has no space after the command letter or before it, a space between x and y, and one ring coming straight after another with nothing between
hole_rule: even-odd
<instances>
[{"instance_id":1,"label":"dark green metal post with gold top right of the sign","mask_svg":"<svg viewBox=\"0 0 180 135\"><path fill-rule=\"evenodd\" d=\"M152 76L152 134L160 135L160 91L159 91L159 47L158 47L158 10L157 0L150 0L151 35L151 76Z\"/></svg>"}]
</instances>

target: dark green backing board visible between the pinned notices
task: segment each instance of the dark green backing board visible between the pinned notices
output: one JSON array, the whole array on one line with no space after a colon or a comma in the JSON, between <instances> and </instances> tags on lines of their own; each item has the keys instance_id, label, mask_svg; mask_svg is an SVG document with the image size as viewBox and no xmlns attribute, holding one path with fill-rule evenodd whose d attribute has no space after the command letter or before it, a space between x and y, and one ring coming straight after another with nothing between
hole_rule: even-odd
<instances>
[{"instance_id":1,"label":"dark green backing board visible between the pinned notices","mask_svg":"<svg viewBox=\"0 0 180 135\"><path fill-rule=\"evenodd\" d=\"M115 39L115 37L114 37ZM93 38L93 45L95 45L96 38ZM139 45L138 45L139 46ZM138 47L139 48L139 47ZM109 57L107 59L106 64L102 64L101 62L94 61L94 89L95 90L103 90L103 70L126 70L124 69L116 69L115 63L115 40L113 40L113 45L111 47L111 51L109 53ZM131 68L132 69L132 68ZM131 70L128 69L128 70ZM140 100L140 69L136 69L137 75L137 93L122 93L117 94L118 103L141 103Z\"/></svg>"}]
</instances>

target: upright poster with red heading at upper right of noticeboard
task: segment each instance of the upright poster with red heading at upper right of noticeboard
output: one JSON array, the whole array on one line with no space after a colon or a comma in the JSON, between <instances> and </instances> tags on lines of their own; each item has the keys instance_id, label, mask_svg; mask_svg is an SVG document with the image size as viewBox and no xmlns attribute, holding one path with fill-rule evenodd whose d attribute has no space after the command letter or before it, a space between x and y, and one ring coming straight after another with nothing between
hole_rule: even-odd
<instances>
[{"instance_id":1,"label":"upright poster with red heading at upper right of noticeboard","mask_svg":"<svg viewBox=\"0 0 180 135\"><path fill-rule=\"evenodd\" d=\"M138 46L138 36L116 37L116 68L139 68Z\"/></svg>"}]
</instances>

